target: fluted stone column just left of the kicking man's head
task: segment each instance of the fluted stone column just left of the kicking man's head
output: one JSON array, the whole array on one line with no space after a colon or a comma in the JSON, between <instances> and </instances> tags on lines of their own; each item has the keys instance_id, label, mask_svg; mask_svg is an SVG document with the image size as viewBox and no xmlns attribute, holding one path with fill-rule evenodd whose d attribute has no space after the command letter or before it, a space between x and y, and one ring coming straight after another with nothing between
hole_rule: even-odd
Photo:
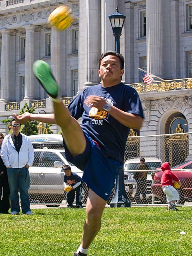
<instances>
[{"instance_id":1,"label":"fluted stone column just left of the kicking man's head","mask_svg":"<svg viewBox=\"0 0 192 256\"><path fill-rule=\"evenodd\" d=\"M85 72L84 86L100 83L98 75L98 60L101 54L101 2L100 0L86 0L86 44L85 44ZM81 62L80 62L81 63Z\"/></svg>"}]
</instances>

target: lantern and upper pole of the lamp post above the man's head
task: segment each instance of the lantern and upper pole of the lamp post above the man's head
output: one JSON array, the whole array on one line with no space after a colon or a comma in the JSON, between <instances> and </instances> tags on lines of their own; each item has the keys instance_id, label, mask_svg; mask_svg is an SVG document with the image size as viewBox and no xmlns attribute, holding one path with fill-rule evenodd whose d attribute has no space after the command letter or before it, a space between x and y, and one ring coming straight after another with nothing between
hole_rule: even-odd
<instances>
[{"instance_id":1,"label":"lantern and upper pole of the lamp post above the man's head","mask_svg":"<svg viewBox=\"0 0 192 256\"><path fill-rule=\"evenodd\" d=\"M122 28L124 25L126 16L118 12L118 8L116 8L116 12L109 15L109 20L111 22L111 27L113 29L113 35L115 36L115 50L120 53L120 36L122 32Z\"/></svg>"}]
</instances>

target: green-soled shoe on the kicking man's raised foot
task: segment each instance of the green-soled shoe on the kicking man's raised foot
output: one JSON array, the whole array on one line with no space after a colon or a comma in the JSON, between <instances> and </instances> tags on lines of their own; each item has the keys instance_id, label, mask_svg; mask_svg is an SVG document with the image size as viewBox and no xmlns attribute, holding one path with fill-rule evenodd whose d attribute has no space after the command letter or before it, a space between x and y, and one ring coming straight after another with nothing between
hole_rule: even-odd
<instances>
[{"instance_id":1,"label":"green-soled shoe on the kicking man's raised foot","mask_svg":"<svg viewBox=\"0 0 192 256\"><path fill-rule=\"evenodd\" d=\"M33 64L33 72L45 91L52 98L56 98L59 94L59 86L51 73L49 64L43 60L36 60Z\"/></svg>"}]
</instances>

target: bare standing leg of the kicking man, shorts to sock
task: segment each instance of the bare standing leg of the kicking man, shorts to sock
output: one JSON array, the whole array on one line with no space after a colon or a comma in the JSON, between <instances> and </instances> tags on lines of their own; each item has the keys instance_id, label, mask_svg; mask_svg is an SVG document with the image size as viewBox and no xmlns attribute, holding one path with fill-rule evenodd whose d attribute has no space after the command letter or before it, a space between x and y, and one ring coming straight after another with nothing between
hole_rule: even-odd
<instances>
[{"instance_id":1,"label":"bare standing leg of the kicking man, shorts to sock","mask_svg":"<svg viewBox=\"0 0 192 256\"><path fill-rule=\"evenodd\" d=\"M107 201L89 189L86 213L87 219L84 223L84 232L81 246L88 249L101 227L101 216Z\"/></svg>"}]
</instances>

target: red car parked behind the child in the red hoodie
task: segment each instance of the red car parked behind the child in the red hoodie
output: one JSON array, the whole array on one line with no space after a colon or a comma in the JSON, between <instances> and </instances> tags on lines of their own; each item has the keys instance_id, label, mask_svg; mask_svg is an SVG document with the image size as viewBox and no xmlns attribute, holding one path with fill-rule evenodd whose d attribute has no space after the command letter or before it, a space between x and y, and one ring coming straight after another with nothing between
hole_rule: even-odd
<instances>
[{"instance_id":1,"label":"red car parked behind the child in the red hoodie","mask_svg":"<svg viewBox=\"0 0 192 256\"><path fill-rule=\"evenodd\" d=\"M159 168L158 168L159 169ZM175 170L173 170L175 169ZM182 169L182 170L177 170ZM191 169L191 170L186 170ZM186 202L192 201L192 160L179 164L171 168L172 172L180 179L181 187L177 190L179 192L180 199L177 204L184 204ZM155 173L154 185L151 186L151 192L156 196L156 200L160 201L162 204L166 202L166 196L163 192L161 185L161 176L163 171L158 170Z\"/></svg>"}]
</instances>

